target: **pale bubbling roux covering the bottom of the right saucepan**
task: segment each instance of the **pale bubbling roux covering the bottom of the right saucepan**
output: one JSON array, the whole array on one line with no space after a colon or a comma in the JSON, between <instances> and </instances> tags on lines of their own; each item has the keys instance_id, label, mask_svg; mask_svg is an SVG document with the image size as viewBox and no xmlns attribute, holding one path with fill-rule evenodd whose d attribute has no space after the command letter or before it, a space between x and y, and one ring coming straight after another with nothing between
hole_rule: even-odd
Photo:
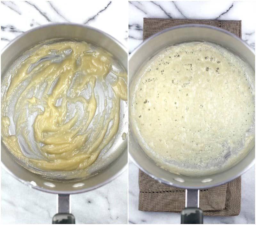
<instances>
[{"instance_id":1,"label":"pale bubbling roux covering the bottom of the right saucepan","mask_svg":"<svg viewBox=\"0 0 256 225\"><path fill-rule=\"evenodd\" d=\"M210 42L168 47L132 81L130 124L156 163L189 176L227 169L254 138L254 72Z\"/></svg>"}]
</instances>

